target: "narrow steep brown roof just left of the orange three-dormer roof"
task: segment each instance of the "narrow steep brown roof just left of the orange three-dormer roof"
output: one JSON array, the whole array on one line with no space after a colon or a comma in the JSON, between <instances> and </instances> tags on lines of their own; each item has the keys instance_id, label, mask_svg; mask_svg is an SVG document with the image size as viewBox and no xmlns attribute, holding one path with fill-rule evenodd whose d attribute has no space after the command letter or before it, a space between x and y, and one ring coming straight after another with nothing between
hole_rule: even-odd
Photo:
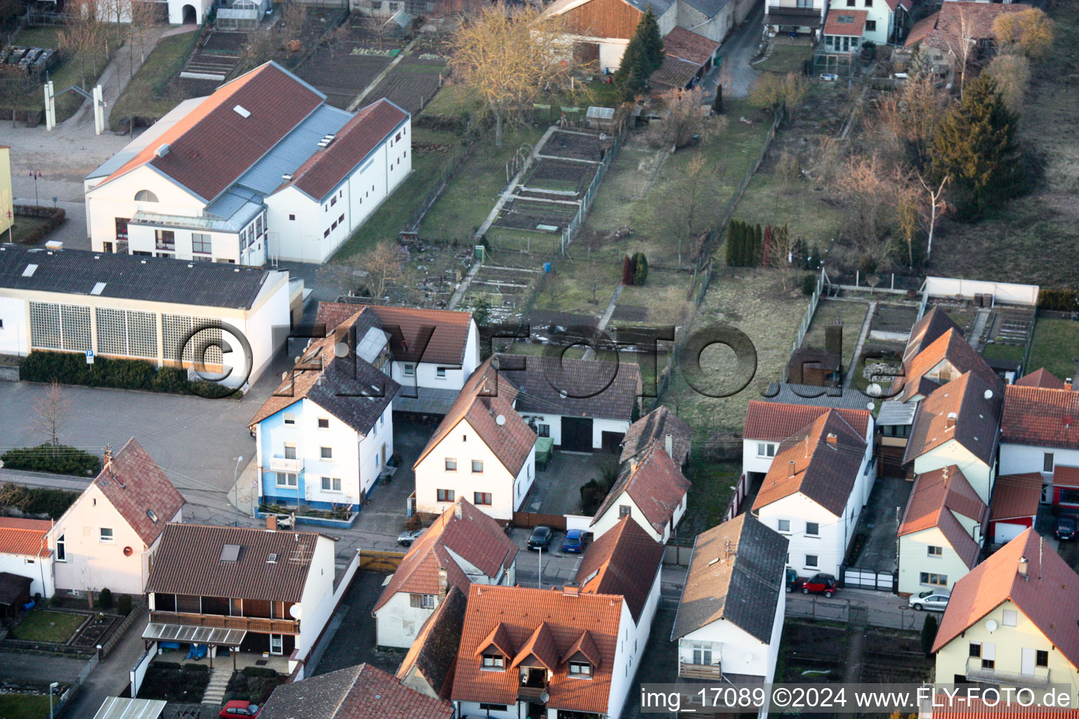
<instances>
[{"instance_id":1,"label":"narrow steep brown roof just left of the orange three-dormer roof","mask_svg":"<svg viewBox=\"0 0 1079 719\"><path fill-rule=\"evenodd\" d=\"M397 669L401 683L416 691L434 692L438 699L449 700L453 689L453 666L461 647L461 632L465 624L467 597L456 586L451 586L446 599L439 603L427 621L420 627L415 641ZM422 678L425 687L413 685Z\"/></svg>"}]
</instances>

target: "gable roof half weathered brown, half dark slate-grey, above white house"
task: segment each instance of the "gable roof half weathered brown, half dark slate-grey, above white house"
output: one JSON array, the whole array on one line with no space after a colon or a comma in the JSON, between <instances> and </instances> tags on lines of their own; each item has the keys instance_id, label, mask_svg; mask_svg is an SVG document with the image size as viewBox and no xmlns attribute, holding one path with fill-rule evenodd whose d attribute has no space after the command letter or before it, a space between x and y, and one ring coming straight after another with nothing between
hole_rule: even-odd
<instances>
[{"instance_id":1,"label":"gable roof half weathered brown, half dark slate-grey, above white house","mask_svg":"<svg viewBox=\"0 0 1079 719\"><path fill-rule=\"evenodd\" d=\"M697 535L671 641L723 619L770 642L787 544L748 512Z\"/></svg>"}]
</instances>

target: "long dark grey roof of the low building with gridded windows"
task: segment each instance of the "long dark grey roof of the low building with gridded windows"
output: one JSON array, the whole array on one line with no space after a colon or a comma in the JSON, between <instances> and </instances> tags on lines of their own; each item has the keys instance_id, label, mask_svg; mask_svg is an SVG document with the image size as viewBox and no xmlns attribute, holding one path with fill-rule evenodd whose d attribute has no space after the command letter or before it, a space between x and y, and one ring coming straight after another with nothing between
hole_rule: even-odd
<instances>
[{"instance_id":1,"label":"long dark grey roof of the low building with gridded windows","mask_svg":"<svg viewBox=\"0 0 1079 719\"><path fill-rule=\"evenodd\" d=\"M248 309L270 276L234 264L0 245L0 289L88 295L104 284L95 293L103 298Z\"/></svg>"}]
</instances>

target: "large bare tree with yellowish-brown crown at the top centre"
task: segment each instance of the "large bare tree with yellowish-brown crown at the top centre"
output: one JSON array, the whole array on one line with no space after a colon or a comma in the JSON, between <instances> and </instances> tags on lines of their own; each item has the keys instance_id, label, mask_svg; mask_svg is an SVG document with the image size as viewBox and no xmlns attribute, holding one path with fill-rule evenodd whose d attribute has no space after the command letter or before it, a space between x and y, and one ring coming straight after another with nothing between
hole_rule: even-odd
<instances>
[{"instance_id":1,"label":"large bare tree with yellowish-brown crown at the top centre","mask_svg":"<svg viewBox=\"0 0 1079 719\"><path fill-rule=\"evenodd\" d=\"M494 4L466 19L451 41L455 82L494 119L494 143L503 125L521 121L521 110L541 93L565 88L585 66L577 64L565 20L532 5Z\"/></svg>"}]
</instances>

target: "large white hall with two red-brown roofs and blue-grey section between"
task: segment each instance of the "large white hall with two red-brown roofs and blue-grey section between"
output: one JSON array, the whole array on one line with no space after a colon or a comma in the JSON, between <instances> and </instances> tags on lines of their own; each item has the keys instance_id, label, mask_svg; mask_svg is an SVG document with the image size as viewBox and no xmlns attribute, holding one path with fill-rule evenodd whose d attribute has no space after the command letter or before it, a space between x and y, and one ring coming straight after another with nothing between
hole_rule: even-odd
<instances>
[{"instance_id":1,"label":"large white hall with two red-brown roofs and blue-grey section between","mask_svg":"<svg viewBox=\"0 0 1079 719\"><path fill-rule=\"evenodd\" d=\"M324 262L412 169L409 113L356 113L275 63L187 100L86 176L98 252Z\"/></svg>"}]
</instances>

